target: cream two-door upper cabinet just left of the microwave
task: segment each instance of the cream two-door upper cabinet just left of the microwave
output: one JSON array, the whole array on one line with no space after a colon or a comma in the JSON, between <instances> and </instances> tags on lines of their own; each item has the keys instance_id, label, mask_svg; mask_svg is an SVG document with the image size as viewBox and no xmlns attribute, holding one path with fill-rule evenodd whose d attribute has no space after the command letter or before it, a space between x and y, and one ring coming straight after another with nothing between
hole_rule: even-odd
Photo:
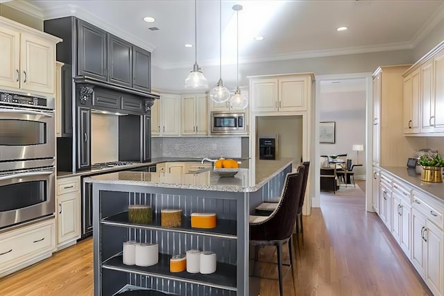
<instances>
[{"instance_id":1,"label":"cream two-door upper cabinet just left of the microwave","mask_svg":"<svg viewBox=\"0 0 444 296\"><path fill-rule=\"evenodd\" d=\"M182 103L182 135L208 135L210 116L205 94L184 95Z\"/></svg>"}]
</instances>

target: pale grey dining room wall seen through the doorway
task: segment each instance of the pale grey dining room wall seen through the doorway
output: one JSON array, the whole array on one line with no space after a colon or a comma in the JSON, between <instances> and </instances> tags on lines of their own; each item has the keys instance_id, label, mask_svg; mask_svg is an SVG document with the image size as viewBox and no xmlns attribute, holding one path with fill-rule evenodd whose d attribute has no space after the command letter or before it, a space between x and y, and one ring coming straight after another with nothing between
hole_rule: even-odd
<instances>
[{"instance_id":1,"label":"pale grey dining room wall seen through the doorway","mask_svg":"<svg viewBox=\"0 0 444 296\"><path fill-rule=\"evenodd\" d=\"M363 80L365 85L365 81ZM366 92L322 92L320 100L319 121L336 122L335 143L320 143L320 155L347 154L352 164L357 164L357 152L352 150L353 144L366 143ZM359 178L365 177L366 147L359 151L359 164L364 166L354 169Z\"/></svg>"}]
</instances>

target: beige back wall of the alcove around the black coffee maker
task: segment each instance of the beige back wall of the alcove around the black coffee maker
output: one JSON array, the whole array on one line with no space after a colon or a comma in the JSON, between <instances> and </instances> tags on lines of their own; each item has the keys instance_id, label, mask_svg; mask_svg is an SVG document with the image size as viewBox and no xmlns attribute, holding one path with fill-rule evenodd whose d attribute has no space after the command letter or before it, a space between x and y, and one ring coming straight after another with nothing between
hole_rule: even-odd
<instances>
[{"instance_id":1,"label":"beige back wall of the alcove around the black coffee maker","mask_svg":"<svg viewBox=\"0 0 444 296\"><path fill-rule=\"evenodd\" d=\"M295 159L299 164L302 159L302 116L261 116L257 117L257 137L279 134L279 155ZM258 147L259 144L256 145ZM259 151L256 151L259 157Z\"/></svg>"}]
</instances>

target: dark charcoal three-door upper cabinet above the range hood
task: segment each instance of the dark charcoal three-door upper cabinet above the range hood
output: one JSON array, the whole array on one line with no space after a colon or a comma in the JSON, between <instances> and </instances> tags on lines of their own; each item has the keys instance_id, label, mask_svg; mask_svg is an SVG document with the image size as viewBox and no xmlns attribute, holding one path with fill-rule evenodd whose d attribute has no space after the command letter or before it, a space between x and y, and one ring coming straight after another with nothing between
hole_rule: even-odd
<instances>
[{"instance_id":1,"label":"dark charcoal three-door upper cabinet above the range hood","mask_svg":"<svg viewBox=\"0 0 444 296\"><path fill-rule=\"evenodd\" d=\"M57 59L74 64L76 82L105 82L138 95L151 92L148 51L76 17L46 20L44 31L67 40L58 46Z\"/></svg>"}]
</instances>

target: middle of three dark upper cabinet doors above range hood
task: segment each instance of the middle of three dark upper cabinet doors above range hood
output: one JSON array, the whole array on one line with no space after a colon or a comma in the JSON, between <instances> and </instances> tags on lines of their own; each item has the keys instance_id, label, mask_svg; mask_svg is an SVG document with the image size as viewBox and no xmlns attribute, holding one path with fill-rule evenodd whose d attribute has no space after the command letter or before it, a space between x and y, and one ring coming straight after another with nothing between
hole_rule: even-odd
<instances>
[{"instance_id":1,"label":"middle of three dark upper cabinet doors above range hood","mask_svg":"<svg viewBox=\"0 0 444 296\"><path fill-rule=\"evenodd\" d=\"M133 47L113 35L108 35L108 81L128 87L133 83Z\"/></svg>"}]
</instances>

